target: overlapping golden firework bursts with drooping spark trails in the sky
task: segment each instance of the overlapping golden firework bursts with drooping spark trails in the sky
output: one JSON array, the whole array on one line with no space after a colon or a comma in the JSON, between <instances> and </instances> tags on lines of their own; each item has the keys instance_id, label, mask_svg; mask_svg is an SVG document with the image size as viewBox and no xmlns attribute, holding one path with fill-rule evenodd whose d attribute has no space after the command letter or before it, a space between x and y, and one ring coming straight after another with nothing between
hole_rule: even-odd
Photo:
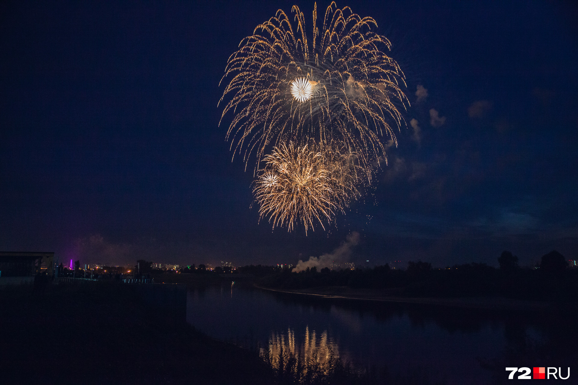
<instances>
[{"instance_id":1,"label":"overlapping golden firework bursts with drooping spark trails in the sky","mask_svg":"<svg viewBox=\"0 0 578 385\"><path fill-rule=\"evenodd\" d=\"M349 7L338 9L332 2L319 30L315 5L313 39L308 40L303 13L297 6L292 12L293 22L278 10L240 42L239 50L228 59L221 81L230 80L219 102L229 99L221 121L225 114L233 114L227 139L234 156L241 155L246 167L255 160L258 187L254 192L261 216L273 212L273 226L287 224L290 229L300 216L306 226L313 226L313 218L320 222L320 218L331 218L355 198L357 189L350 185L371 182L380 162L387 162L383 143L393 140L397 145L394 128L405 126L399 108L405 110L406 103L409 105L401 90L405 87L403 72L384 53L391 44L372 31L377 28L373 18L361 18ZM281 203L280 196L265 198L272 191L265 181L272 184L275 176L281 176L271 169L271 157L291 146L318 152L314 170L321 173L316 177L321 185L339 185L335 175L343 180L351 171L345 178L348 187L343 189L349 192L336 195L323 188L312 189L320 195L299 204L315 203L314 211L297 208L297 201ZM266 171L262 173L264 159ZM335 163L340 166L330 171ZM286 199L293 197L290 190L284 194Z\"/></svg>"}]
</instances>

